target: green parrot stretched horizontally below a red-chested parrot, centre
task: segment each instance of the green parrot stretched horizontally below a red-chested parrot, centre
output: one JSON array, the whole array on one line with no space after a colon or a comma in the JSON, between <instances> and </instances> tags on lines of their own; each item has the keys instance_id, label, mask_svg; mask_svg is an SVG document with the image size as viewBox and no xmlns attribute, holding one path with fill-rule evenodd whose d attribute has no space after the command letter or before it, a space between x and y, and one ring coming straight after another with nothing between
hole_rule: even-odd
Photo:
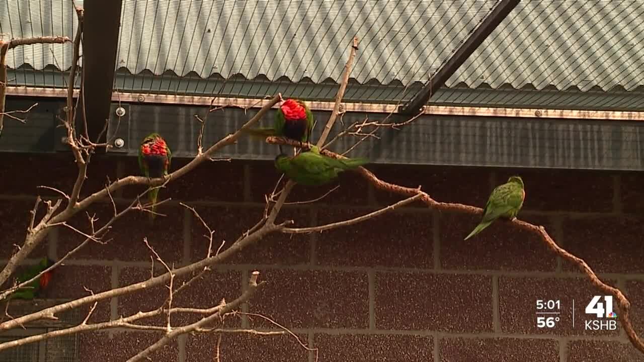
<instances>
[{"instance_id":1,"label":"green parrot stretched horizontally below a red-chested parrot, centre","mask_svg":"<svg viewBox=\"0 0 644 362\"><path fill-rule=\"evenodd\" d=\"M337 174L348 169L355 169L368 163L366 158L335 158L320 155L317 146L310 151L301 152L295 157L280 153L275 158L275 168L282 171L291 180L307 186L328 184Z\"/></svg>"}]
</instances>

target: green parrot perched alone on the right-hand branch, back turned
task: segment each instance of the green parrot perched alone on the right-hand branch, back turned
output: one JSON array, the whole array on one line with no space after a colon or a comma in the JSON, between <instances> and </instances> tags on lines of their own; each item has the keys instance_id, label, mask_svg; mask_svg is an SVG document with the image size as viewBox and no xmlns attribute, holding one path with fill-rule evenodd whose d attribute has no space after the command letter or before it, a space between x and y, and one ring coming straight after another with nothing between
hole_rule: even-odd
<instances>
[{"instance_id":1,"label":"green parrot perched alone on the right-hand branch, back turned","mask_svg":"<svg viewBox=\"0 0 644 362\"><path fill-rule=\"evenodd\" d=\"M465 240L480 233L497 218L502 217L514 220L523 206L525 198L526 190L524 189L523 180L519 176L508 178L506 184L499 185L493 189L491 195L489 195L488 203L483 209L481 222L469 233Z\"/></svg>"}]
</instances>

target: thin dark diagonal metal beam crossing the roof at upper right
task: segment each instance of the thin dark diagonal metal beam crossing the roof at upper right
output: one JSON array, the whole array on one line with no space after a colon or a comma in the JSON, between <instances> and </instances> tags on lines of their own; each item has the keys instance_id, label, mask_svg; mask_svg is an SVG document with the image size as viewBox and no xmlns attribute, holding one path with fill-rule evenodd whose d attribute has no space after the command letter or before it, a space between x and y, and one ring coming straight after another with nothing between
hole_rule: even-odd
<instances>
[{"instance_id":1,"label":"thin dark diagonal metal beam crossing the roof at upper right","mask_svg":"<svg viewBox=\"0 0 644 362\"><path fill-rule=\"evenodd\" d=\"M430 97L444 86L445 82L459 69L460 66L469 58L478 46L488 38L488 35L493 32L507 15L518 5L520 0L502 0L492 10L488 16L483 19L480 26L476 28L459 49L446 61L438 71L431 77L430 81L425 84L421 91L409 102L406 102L399 108L398 113L403 115L417 115L422 112L424 106Z\"/></svg>"}]
</instances>

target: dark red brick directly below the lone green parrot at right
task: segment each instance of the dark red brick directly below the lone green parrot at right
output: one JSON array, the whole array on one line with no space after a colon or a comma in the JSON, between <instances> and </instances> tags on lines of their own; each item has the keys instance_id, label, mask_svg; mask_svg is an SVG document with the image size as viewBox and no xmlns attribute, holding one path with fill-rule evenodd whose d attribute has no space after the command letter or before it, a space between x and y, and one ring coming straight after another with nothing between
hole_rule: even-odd
<instances>
[{"instance_id":1,"label":"dark red brick directly below the lone green parrot at right","mask_svg":"<svg viewBox=\"0 0 644 362\"><path fill-rule=\"evenodd\" d=\"M441 213L440 267L443 269L500 269L554 271L555 254L536 234L497 220L484 231L463 240L478 224L480 215ZM519 218L544 225L554 235L547 218ZM526 252L529 250L530 252ZM521 256L517 258L517 256Z\"/></svg>"}]
</instances>

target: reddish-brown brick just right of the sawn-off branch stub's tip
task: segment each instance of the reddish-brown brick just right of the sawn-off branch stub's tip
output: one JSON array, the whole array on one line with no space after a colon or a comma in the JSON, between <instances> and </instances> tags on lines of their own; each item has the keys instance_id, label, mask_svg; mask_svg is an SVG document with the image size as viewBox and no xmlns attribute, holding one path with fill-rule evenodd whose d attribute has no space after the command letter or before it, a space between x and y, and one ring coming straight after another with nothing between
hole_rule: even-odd
<instances>
[{"instance_id":1,"label":"reddish-brown brick just right of the sawn-off branch stub's tip","mask_svg":"<svg viewBox=\"0 0 644 362\"><path fill-rule=\"evenodd\" d=\"M368 281L364 272L262 271L268 284L249 301L260 313L288 327L366 328ZM252 318L255 327L274 327Z\"/></svg>"}]
</instances>

